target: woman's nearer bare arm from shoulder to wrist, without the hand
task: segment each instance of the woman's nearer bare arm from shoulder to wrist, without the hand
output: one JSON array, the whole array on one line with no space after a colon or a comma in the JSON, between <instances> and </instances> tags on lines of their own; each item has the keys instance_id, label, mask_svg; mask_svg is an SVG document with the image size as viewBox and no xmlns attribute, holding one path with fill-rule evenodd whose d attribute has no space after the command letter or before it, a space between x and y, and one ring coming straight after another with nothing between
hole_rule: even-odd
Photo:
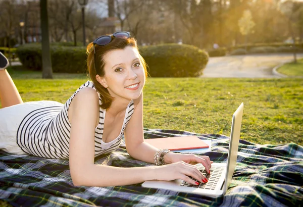
<instances>
[{"instance_id":1,"label":"woman's nearer bare arm from shoulder to wrist, without the hand","mask_svg":"<svg viewBox=\"0 0 303 207\"><path fill-rule=\"evenodd\" d=\"M118 168L94 164L94 129L99 119L99 98L94 89L83 88L73 98L69 147L74 185L114 186L155 179L152 169ZM70 108L71 109L71 108Z\"/></svg>"}]
</instances>

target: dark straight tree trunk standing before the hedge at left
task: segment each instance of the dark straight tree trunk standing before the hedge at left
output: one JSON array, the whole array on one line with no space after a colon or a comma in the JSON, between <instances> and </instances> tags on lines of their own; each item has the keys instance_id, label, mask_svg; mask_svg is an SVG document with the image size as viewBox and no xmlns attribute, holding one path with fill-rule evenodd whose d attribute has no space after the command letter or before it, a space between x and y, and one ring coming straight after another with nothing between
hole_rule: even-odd
<instances>
[{"instance_id":1,"label":"dark straight tree trunk standing before the hedge at left","mask_svg":"<svg viewBox=\"0 0 303 207\"><path fill-rule=\"evenodd\" d=\"M42 78L53 78L51 52L49 49L47 0L40 0L42 35Z\"/></svg>"}]
</instances>

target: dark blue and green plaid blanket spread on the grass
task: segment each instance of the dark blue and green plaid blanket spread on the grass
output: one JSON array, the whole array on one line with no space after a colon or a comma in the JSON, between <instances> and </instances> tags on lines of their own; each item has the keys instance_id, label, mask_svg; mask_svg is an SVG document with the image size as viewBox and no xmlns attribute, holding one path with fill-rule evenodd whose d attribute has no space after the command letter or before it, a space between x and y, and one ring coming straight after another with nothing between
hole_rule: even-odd
<instances>
[{"instance_id":1,"label":"dark blue and green plaid blanket spread on the grass","mask_svg":"<svg viewBox=\"0 0 303 207\"><path fill-rule=\"evenodd\" d=\"M206 152L226 162L229 137L145 129L145 138L198 135L212 140ZM0 199L14 206L300 206L303 199L303 147L294 143L259 145L240 140L237 166L227 193L218 198L143 188L140 184L75 187L68 160L44 159L0 151ZM132 159L125 145L99 156L96 164L150 166Z\"/></svg>"}]
</instances>

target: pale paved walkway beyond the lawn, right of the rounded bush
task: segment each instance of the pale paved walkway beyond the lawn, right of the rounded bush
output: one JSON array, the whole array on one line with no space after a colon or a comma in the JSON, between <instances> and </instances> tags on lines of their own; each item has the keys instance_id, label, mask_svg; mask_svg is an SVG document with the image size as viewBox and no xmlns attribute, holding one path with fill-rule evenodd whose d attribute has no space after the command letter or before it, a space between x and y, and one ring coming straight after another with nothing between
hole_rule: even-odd
<instances>
[{"instance_id":1,"label":"pale paved walkway beyond the lawn, right of the rounded bush","mask_svg":"<svg viewBox=\"0 0 303 207\"><path fill-rule=\"evenodd\" d=\"M303 54L297 54L297 58L303 58ZM213 57L201 77L280 78L272 69L292 60L292 54Z\"/></svg>"}]
</instances>

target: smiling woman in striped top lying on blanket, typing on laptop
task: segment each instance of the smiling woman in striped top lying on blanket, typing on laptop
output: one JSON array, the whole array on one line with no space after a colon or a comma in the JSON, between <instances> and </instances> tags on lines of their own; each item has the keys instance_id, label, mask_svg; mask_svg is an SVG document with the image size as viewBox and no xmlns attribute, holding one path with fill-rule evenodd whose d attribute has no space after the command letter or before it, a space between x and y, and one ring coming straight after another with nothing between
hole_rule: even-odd
<instances>
[{"instance_id":1,"label":"smiling woman in striped top lying on blanket, typing on laptop","mask_svg":"<svg viewBox=\"0 0 303 207\"><path fill-rule=\"evenodd\" d=\"M92 81L81 85L64 105L45 100L23 103L8 72L0 71L0 148L11 153L69 159L71 178L77 186L174 179L193 185L207 182L189 163L201 163L210 172L209 157L173 153L144 142L142 89L147 72L136 40L128 32L116 32L98 37L86 51ZM94 164L96 156L119 147L123 133L130 156L156 166L118 168Z\"/></svg>"}]
</instances>

